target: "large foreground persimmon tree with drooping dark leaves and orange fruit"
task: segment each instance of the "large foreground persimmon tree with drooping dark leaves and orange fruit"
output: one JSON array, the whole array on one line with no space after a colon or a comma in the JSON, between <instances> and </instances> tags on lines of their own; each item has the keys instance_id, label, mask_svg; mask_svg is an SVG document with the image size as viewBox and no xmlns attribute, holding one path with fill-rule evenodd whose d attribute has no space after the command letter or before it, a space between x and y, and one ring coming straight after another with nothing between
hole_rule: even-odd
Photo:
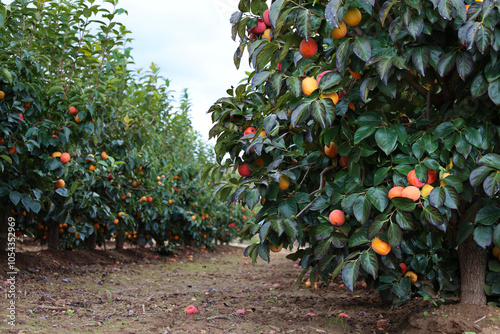
<instances>
[{"instance_id":1,"label":"large foreground persimmon tree with drooping dark leaves and orange fruit","mask_svg":"<svg viewBox=\"0 0 500 334\"><path fill-rule=\"evenodd\" d=\"M254 70L211 107L204 170L236 173L222 198L262 202L247 254L283 244L298 282L363 277L396 304L498 302L500 3L267 6L231 17L235 65L247 52Z\"/></svg>"}]
</instances>

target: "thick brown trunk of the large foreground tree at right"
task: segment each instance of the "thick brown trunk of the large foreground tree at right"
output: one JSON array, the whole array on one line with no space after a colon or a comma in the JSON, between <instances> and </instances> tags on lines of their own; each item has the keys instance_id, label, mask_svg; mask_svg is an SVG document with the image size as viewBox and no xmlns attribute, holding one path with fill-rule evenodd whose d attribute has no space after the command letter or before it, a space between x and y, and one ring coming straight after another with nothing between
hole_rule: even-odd
<instances>
[{"instance_id":1,"label":"thick brown trunk of the large foreground tree at right","mask_svg":"<svg viewBox=\"0 0 500 334\"><path fill-rule=\"evenodd\" d=\"M486 280L487 256L488 253L475 244L472 236L469 236L458 247L460 277L462 280L462 303L486 304L484 282Z\"/></svg>"}]
</instances>

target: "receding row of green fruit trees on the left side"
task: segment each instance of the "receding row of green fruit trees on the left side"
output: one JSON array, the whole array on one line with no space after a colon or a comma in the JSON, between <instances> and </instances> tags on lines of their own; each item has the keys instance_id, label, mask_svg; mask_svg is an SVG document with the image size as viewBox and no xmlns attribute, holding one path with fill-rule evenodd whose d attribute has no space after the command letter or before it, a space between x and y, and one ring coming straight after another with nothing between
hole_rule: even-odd
<instances>
[{"instance_id":1,"label":"receding row of green fruit trees on the left side","mask_svg":"<svg viewBox=\"0 0 500 334\"><path fill-rule=\"evenodd\" d=\"M125 10L105 2L0 4L1 248L12 217L52 249L229 242L253 213L212 200L222 173L199 182L212 153L187 92L130 70Z\"/></svg>"}]
</instances>

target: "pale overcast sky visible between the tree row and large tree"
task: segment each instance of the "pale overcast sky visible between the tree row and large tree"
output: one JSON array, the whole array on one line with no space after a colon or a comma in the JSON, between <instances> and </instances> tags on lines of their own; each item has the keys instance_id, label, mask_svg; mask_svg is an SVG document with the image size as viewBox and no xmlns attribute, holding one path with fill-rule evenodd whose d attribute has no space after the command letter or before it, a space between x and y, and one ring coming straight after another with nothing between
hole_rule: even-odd
<instances>
[{"instance_id":1,"label":"pale overcast sky visible between the tree row and large tree","mask_svg":"<svg viewBox=\"0 0 500 334\"><path fill-rule=\"evenodd\" d=\"M206 140L212 128L207 110L250 70L248 60L241 62L240 70L233 64L238 43L231 39L229 18L238 2L120 0L117 6L128 11L118 20L132 32L135 68L158 64L161 75L171 80L176 99L188 89L193 126Z\"/></svg>"}]
</instances>

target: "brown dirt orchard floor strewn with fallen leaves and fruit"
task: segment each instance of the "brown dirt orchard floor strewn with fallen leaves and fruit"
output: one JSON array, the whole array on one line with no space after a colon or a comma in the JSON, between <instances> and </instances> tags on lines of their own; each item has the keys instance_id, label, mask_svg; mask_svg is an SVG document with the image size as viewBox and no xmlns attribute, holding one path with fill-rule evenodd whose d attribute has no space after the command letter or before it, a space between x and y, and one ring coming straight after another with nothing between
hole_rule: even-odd
<instances>
[{"instance_id":1,"label":"brown dirt orchard floor strewn with fallen leaves and fruit","mask_svg":"<svg viewBox=\"0 0 500 334\"><path fill-rule=\"evenodd\" d=\"M237 247L182 248L176 255L141 249L18 252L12 327L6 320L6 253L0 253L0 332L500 334L499 310L487 306L436 307L413 299L395 308L381 303L376 291L350 292L340 282L294 290L301 269L284 251L255 266ZM186 315L191 304L198 312Z\"/></svg>"}]
</instances>

